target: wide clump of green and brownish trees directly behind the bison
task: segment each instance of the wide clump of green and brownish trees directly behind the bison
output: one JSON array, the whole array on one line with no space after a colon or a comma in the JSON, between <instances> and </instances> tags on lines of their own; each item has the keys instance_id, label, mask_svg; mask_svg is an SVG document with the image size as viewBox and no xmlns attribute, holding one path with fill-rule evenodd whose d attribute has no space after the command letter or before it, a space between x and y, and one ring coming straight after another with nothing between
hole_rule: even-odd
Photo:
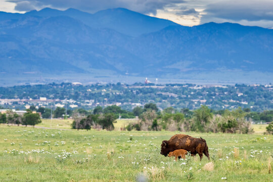
<instances>
[{"instance_id":1,"label":"wide clump of green and brownish trees directly behind the bison","mask_svg":"<svg viewBox=\"0 0 273 182\"><path fill-rule=\"evenodd\" d=\"M166 108L162 112L148 109L140 115L138 122L129 124L126 129L251 133L251 123L246 115L242 108L224 110L217 114L207 106L201 106L194 111L183 109L180 112L174 108Z\"/></svg>"}]
</instances>

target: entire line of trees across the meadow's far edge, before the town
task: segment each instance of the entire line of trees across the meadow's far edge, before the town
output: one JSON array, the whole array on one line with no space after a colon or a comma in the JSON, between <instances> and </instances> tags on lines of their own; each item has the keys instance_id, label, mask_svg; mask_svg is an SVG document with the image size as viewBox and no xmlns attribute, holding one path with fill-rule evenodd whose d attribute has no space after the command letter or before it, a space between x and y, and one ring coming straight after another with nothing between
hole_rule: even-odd
<instances>
[{"instance_id":1,"label":"entire line of trees across the meadow's far edge, before the town","mask_svg":"<svg viewBox=\"0 0 273 182\"><path fill-rule=\"evenodd\" d=\"M6 114L0 114L0 123L35 125L40 122L39 114L32 113L35 107L31 107L28 112L20 116L11 110ZM38 108L41 114L49 112L47 108ZM55 117L64 118L65 109L56 108ZM156 104L145 104L144 107L135 107L132 111L122 110L119 106L107 106L102 108L97 106L93 110L75 109L69 111L73 118L71 125L74 129L107 129L113 130L113 123L117 118L135 118L138 121L128 124L127 130L170 130L170 131L196 131L196 132L225 132L225 133L251 133L251 121L268 122L273 119L273 111L263 111L261 113L251 112L250 109L239 107L235 110L212 110L207 106L201 106L196 110L187 108L177 110L168 107L159 111ZM273 133L273 125L267 127L268 133Z\"/></svg>"}]
</instances>

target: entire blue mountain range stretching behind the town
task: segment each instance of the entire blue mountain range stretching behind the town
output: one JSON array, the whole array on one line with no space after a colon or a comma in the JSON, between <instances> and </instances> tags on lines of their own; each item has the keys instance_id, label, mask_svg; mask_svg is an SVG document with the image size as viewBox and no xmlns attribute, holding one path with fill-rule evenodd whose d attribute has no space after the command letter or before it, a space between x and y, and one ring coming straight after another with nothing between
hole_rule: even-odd
<instances>
[{"instance_id":1,"label":"entire blue mountain range stretching behind the town","mask_svg":"<svg viewBox=\"0 0 273 182\"><path fill-rule=\"evenodd\" d=\"M123 8L0 12L0 73L273 73L273 29L187 27Z\"/></svg>"}]
</instances>

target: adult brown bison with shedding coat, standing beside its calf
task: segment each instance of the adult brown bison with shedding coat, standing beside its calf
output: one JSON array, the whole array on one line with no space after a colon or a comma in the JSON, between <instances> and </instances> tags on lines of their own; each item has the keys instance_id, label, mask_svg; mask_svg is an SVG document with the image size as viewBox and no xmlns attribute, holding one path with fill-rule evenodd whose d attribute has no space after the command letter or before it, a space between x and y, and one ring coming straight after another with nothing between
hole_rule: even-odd
<instances>
[{"instance_id":1,"label":"adult brown bison with shedding coat, standing beside its calf","mask_svg":"<svg viewBox=\"0 0 273 182\"><path fill-rule=\"evenodd\" d=\"M208 146L204 139L193 138L187 134L175 134L173 135L169 141L162 141L160 154L165 157L169 152L184 149L188 152L191 152L192 155L198 154L200 156L200 160L203 158L203 153L209 159Z\"/></svg>"}]
</instances>

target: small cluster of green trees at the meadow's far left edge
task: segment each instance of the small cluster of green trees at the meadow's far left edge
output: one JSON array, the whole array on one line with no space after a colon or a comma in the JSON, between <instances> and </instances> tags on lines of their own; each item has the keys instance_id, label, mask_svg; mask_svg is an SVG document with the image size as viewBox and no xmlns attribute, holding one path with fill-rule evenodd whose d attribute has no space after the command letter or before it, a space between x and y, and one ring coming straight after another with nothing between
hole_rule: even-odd
<instances>
[{"instance_id":1,"label":"small cluster of green trees at the meadow's far left edge","mask_svg":"<svg viewBox=\"0 0 273 182\"><path fill-rule=\"evenodd\" d=\"M17 114L12 110L7 111L6 113L0 113L0 123L4 124L20 124L22 125L32 125L33 127L41 123L40 115L38 113L33 113L31 110L27 110L23 115Z\"/></svg>"}]
</instances>

